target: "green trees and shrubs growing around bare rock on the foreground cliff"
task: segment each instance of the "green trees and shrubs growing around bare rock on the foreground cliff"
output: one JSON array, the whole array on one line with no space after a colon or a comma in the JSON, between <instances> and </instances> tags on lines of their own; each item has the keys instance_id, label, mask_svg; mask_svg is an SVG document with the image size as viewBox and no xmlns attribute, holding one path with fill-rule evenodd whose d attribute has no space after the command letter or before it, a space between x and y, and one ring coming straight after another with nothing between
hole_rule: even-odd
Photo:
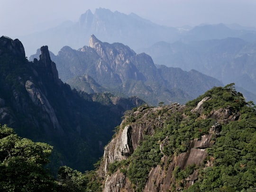
<instances>
[{"instance_id":1,"label":"green trees and shrubs growing around bare rock on the foreground cliff","mask_svg":"<svg viewBox=\"0 0 256 192\"><path fill-rule=\"evenodd\" d=\"M209 134L216 119L202 118L192 114L191 109L204 97L211 99L203 104L203 114L210 116L212 110L229 108L240 115L239 120L221 124L221 132L212 139L213 147L208 148L208 160L213 166L187 166L184 170L176 167L173 176L180 189L187 192L232 192L253 191L256 188L256 110L253 102L246 103L242 95L235 91L231 83L224 88L215 87L207 91L182 111L168 114L161 128L155 128L153 135L146 135L134 153L128 158L128 169L123 167L136 191L143 191L148 174L152 167L160 165L162 153L171 157L186 152L190 141L201 139ZM157 111L155 115L147 114L149 118L168 113L166 110ZM128 113L130 117L132 112ZM138 119L135 119L135 123ZM161 120L159 118L159 120ZM133 122L129 122L133 123ZM219 122L218 122L219 124ZM119 163L111 165L111 173L119 169ZM199 171L199 179L191 187L186 188L186 178L195 170ZM126 172L127 171L127 172ZM175 190L175 186L173 186Z\"/></svg>"}]
</instances>

